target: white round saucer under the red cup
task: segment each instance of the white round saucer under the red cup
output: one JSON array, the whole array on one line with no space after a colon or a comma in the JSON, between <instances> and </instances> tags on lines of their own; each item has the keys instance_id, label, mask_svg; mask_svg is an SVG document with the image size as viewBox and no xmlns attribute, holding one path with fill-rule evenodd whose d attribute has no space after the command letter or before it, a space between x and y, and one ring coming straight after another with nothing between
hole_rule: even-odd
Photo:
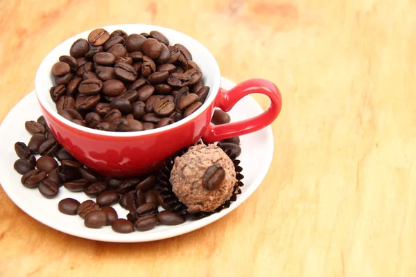
<instances>
[{"instance_id":1,"label":"white round saucer under the red cup","mask_svg":"<svg viewBox=\"0 0 416 277\"><path fill-rule=\"evenodd\" d=\"M234 84L223 78L221 87L230 89ZM229 111L232 121L243 120L261 114L263 109L251 96L246 96L238 102L232 111ZM61 199L72 197L83 202L89 199L84 193L71 193L64 187L60 188L58 197L46 199L35 189L25 188L20 183L21 175L13 169L13 163L18 159L14 145L17 141L28 143L31 135L24 128L26 120L36 120L42 113L37 102L35 91L23 98L4 118L0 126L0 184L7 195L15 202L21 210L33 217L35 220L50 226L53 229L75 235L89 240L100 240L105 242L148 242L175 237L200 229L211 222L232 212L245 202L261 181L263 181L273 157L273 134L271 127L266 127L258 132L241 136L242 153L240 166L243 167L245 186L241 188L242 193L232 202L229 208L220 213L210 215L202 220L187 221L177 226L159 225L155 229L133 233L121 234L112 231L110 226L101 229L88 229L84 226L83 220L78 216L64 215L58 211L58 202ZM119 217L125 218L128 211L116 204L113 206Z\"/></svg>"}]
</instances>

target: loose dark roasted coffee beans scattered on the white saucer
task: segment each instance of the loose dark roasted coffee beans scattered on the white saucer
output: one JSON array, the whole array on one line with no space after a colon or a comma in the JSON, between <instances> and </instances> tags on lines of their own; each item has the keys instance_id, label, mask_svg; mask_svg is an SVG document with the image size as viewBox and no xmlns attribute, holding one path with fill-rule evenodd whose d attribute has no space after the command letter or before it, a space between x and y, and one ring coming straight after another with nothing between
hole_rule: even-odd
<instances>
[{"instance_id":1,"label":"loose dark roasted coffee beans scattered on the white saucer","mask_svg":"<svg viewBox=\"0 0 416 277\"><path fill-rule=\"evenodd\" d=\"M229 120L227 113L216 110L212 123L224 124L229 123ZM32 135L30 141L27 145L20 141L15 143L19 159L15 161L14 168L23 175L21 184L26 188L37 188L48 199L56 197L62 186L73 193L83 192L92 198L82 203L72 198L62 199L58 204L61 213L79 215L88 228L112 226L117 233L148 231L157 224L177 225L185 222L183 215L167 211L168 206L155 189L154 175L124 180L98 175L77 161L55 140L43 116L37 121L27 121L25 128ZM235 137L218 142L218 146L223 150L232 150L239 156L239 143L239 137ZM127 219L119 218L112 208L117 203L128 211ZM165 211L159 211L159 206Z\"/></svg>"}]
</instances>

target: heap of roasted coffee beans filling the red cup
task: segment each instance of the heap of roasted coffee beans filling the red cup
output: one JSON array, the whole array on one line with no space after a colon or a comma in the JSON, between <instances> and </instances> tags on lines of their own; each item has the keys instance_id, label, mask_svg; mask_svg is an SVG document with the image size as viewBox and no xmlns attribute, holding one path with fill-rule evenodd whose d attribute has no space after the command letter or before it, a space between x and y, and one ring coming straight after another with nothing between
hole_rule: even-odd
<instances>
[{"instance_id":1,"label":"heap of roasted coffee beans filling the red cup","mask_svg":"<svg viewBox=\"0 0 416 277\"><path fill-rule=\"evenodd\" d=\"M130 34L93 30L52 67L50 93L58 114L111 132L164 127L193 114L209 87L182 44L158 31Z\"/></svg>"}]
</instances>

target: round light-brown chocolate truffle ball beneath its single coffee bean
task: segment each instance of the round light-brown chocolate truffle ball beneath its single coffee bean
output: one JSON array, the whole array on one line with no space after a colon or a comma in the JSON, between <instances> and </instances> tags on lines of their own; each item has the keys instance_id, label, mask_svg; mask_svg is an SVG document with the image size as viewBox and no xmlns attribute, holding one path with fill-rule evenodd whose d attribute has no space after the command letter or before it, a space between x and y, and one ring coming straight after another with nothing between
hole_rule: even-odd
<instances>
[{"instance_id":1,"label":"round light-brown chocolate truffle ball beneath its single coffee bean","mask_svg":"<svg viewBox=\"0 0 416 277\"><path fill-rule=\"evenodd\" d=\"M225 171L223 181L216 189L208 190L202 185L207 169L216 165ZM187 206L189 213L212 212L227 201L237 182L232 160L214 144L195 145L181 157L176 157L171 177L173 193Z\"/></svg>"}]
</instances>

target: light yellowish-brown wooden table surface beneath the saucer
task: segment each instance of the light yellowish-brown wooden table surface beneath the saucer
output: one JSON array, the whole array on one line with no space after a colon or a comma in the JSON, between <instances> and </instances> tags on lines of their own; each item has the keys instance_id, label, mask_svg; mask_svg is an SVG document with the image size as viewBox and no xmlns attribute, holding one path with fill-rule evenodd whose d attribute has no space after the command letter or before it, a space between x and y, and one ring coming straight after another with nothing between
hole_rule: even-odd
<instances>
[{"instance_id":1,"label":"light yellowish-brown wooden table surface beneath the saucer","mask_svg":"<svg viewBox=\"0 0 416 277\"><path fill-rule=\"evenodd\" d=\"M74 238L0 188L0 276L415 276L415 14L410 0L0 1L0 120L54 46L122 23L187 33L225 77L284 98L259 190L178 238Z\"/></svg>"}]
</instances>

